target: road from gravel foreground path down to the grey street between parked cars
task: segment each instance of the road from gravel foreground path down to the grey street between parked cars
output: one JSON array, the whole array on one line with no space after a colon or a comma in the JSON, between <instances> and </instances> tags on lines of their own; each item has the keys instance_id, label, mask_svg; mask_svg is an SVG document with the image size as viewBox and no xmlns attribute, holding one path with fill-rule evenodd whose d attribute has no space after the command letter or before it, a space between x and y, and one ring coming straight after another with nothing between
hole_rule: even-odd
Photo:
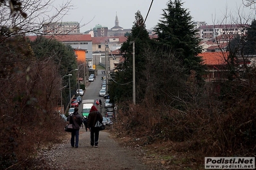
<instances>
[{"instance_id":1,"label":"road from gravel foreground path down to the grey street between parked cars","mask_svg":"<svg viewBox=\"0 0 256 170\"><path fill-rule=\"evenodd\" d=\"M99 99L98 92L101 88L101 70L98 71L96 81L91 82L85 91L83 99ZM101 97L103 99L103 97ZM103 101L105 101L103 99ZM79 106L81 111L81 105ZM103 111L102 107L100 110ZM67 132L67 139L62 144L43 153L44 160L51 169L111 169L111 170L148 170L158 169L153 165L147 166L141 162L144 158L142 151L137 148L121 147L108 133L110 128L99 132L99 148L90 146L90 132L85 127L80 129L78 148L71 147L70 136Z\"/></svg>"}]
</instances>

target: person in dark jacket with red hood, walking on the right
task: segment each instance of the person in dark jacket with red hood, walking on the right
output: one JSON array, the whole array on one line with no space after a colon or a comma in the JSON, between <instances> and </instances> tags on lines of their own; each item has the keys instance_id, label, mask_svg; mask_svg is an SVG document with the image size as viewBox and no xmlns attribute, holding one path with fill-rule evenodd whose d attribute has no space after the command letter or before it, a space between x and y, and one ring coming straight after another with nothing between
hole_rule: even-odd
<instances>
[{"instance_id":1,"label":"person in dark jacket with red hood, walking on the right","mask_svg":"<svg viewBox=\"0 0 256 170\"><path fill-rule=\"evenodd\" d=\"M95 127L98 120L102 123L103 117L95 105L92 105L88 116L88 127L90 128L90 146L95 145L95 148L98 148L99 143L99 129Z\"/></svg>"}]
</instances>

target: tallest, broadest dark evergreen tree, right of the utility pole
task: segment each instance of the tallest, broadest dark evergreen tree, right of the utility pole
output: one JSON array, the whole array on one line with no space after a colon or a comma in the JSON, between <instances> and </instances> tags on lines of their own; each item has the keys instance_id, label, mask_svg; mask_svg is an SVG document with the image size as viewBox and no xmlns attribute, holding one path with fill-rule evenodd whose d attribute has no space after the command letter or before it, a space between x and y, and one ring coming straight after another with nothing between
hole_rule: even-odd
<instances>
[{"instance_id":1,"label":"tallest, broadest dark evergreen tree, right of the utility pole","mask_svg":"<svg viewBox=\"0 0 256 170\"><path fill-rule=\"evenodd\" d=\"M182 62L185 73L189 75L194 70L196 77L201 79L205 67L201 65L202 59L197 57L201 52L200 38L196 37L190 13L182 5L179 0L170 0L154 31L158 36L158 45L175 54Z\"/></svg>"}]
</instances>

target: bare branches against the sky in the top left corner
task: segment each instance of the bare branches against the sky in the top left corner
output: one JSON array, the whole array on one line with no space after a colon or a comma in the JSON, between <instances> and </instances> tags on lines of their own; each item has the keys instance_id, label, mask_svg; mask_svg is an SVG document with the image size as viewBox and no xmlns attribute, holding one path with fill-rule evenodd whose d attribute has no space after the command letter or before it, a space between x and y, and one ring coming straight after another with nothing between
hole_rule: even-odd
<instances>
[{"instance_id":1,"label":"bare branches against the sky in the top left corner","mask_svg":"<svg viewBox=\"0 0 256 170\"><path fill-rule=\"evenodd\" d=\"M45 22L53 23L61 20L71 9L71 1L54 6L53 0L5 1L0 5L0 30L7 35L42 34Z\"/></svg>"}]
</instances>

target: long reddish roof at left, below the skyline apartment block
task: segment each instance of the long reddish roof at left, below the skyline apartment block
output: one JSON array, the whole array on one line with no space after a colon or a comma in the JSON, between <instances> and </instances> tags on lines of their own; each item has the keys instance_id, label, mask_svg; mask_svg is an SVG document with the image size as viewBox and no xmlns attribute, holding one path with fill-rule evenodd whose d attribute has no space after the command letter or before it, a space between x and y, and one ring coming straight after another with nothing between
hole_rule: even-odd
<instances>
[{"instance_id":1,"label":"long reddish roof at left, below the skyline apartment block","mask_svg":"<svg viewBox=\"0 0 256 170\"><path fill-rule=\"evenodd\" d=\"M59 42L92 42L90 35L46 35L46 38L55 38ZM33 42L37 36L28 36Z\"/></svg>"}]
</instances>

